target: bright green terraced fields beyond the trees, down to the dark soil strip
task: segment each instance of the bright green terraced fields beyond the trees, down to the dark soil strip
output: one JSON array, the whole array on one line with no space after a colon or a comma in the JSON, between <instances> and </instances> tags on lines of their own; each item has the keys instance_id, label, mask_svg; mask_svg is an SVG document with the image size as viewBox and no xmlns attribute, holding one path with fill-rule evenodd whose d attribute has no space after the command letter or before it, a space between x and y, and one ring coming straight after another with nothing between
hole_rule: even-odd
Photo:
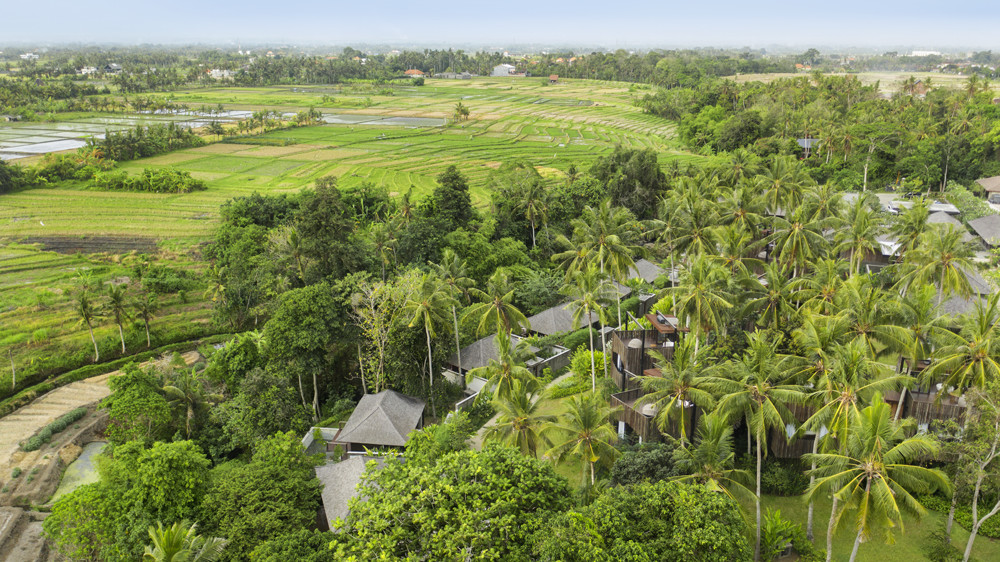
<instances>
[{"instance_id":1,"label":"bright green terraced fields beyond the trees, down to the dark soil strip","mask_svg":"<svg viewBox=\"0 0 1000 562\"><path fill-rule=\"evenodd\" d=\"M298 111L322 103L330 88L276 87L171 92L190 107L222 103L227 109ZM535 79L431 81L422 88L397 88L393 95L365 91L338 101L325 113L387 117L448 117L461 101L468 121L444 127L329 124L283 129L264 135L289 146L217 143L122 167L172 167L205 180L209 189L184 195L121 194L90 191L81 184L34 189L0 200L3 236L154 236L169 247L207 239L219 206L254 191L295 191L317 178L335 175L347 187L363 181L401 194L429 193L434 178L454 164L471 181L477 204L488 200L490 172L512 159L526 159L543 175L559 178L570 164L585 168L615 145L652 148L661 161L701 157L679 149L674 125L645 115L622 84L568 81L541 85ZM165 95L165 94L164 94ZM371 106L357 106L370 99ZM42 226L44 223L44 226Z\"/></svg>"}]
</instances>

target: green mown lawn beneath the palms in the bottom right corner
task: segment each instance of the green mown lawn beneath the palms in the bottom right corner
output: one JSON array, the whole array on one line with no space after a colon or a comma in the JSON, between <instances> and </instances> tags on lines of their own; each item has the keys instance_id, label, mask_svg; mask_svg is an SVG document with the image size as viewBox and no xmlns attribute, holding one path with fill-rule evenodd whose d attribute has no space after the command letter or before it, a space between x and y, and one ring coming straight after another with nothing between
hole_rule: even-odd
<instances>
[{"instance_id":1,"label":"green mown lawn beneath the palms in the bottom right corner","mask_svg":"<svg viewBox=\"0 0 1000 562\"><path fill-rule=\"evenodd\" d=\"M800 497L764 496L762 509L780 509L781 515L805 528L807 506ZM830 500L823 499L816 503L815 523L813 530L816 544L826 548L826 527L830 521ZM858 560L877 562L916 562L926 560L923 554L926 537L945 522L947 514L931 511L922 520L904 518L904 530L896 533L896 543L886 545L880 541L862 544L858 549ZM965 542L969 533L957 523L952 527L952 544L965 550ZM848 560L854 547L854 534L844 527L833 537L833 560ZM976 560L1000 560L1000 541L985 537L977 537L972 548L972 556Z\"/></svg>"}]
</instances>

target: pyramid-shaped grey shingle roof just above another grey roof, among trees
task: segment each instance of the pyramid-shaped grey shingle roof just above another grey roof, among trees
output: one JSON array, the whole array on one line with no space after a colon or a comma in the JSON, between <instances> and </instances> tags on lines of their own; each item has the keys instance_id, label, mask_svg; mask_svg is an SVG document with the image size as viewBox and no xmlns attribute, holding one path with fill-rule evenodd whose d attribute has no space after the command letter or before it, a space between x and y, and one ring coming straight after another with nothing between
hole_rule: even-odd
<instances>
[{"instance_id":1,"label":"pyramid-shaped grey shingle roof just above another grey roof, among trees","mask_svg":"<svg viewBox=\"0 0 1000 562\"><path fill-rule=\"evenodd\" d=\"M394 390L366 394L340 430L337 441L402 447L407 434L420 424L423 413L423 401L412 396Z\"/></svg>"}]
</instances>

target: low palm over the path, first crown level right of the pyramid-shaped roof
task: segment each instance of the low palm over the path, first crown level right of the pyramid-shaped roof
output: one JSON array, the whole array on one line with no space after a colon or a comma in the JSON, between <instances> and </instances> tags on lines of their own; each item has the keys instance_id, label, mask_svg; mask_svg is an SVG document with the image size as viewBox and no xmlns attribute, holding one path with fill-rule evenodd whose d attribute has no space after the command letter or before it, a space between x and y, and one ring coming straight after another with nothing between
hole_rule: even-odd
<instances>
[{"instance_id":1,"label":"low palm over the path, first crown level right of the pyramid-shaped roof","mask_svg":"<svg viewBox=\"0 0 1000 562\"><path fill-rule=\"evenodd\" d=\"M486 430L486 439L496 439L521 453L538 456L539 447L549 447L542 429L556 421L556 416L543 414L545 400L515 382L509 396L493 401L497 419Z\"/></svg>"}]
</instances>

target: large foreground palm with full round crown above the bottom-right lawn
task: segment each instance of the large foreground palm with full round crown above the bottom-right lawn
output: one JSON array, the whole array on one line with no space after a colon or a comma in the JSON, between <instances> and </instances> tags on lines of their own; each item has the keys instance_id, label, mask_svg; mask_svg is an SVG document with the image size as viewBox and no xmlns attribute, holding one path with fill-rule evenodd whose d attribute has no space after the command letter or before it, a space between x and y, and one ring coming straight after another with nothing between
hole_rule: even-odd
<instances>
[{"instance_id":1,"label":"large foreground palm with full round crown above the bottom-right lawn","mask_svg":"<svg viewBox=\"0 0 1000 562\"><path fill-rule=\"evenodd\" d=\"M889 416L889 405L876 394L854 421L842 452L806 455L818 465L814 472L818 479L806 497L812 500L832 492L842 503L837 526L851 520L851 528L857 530L851 562L861 542L873 538L876 531L892 542L892 529L903 530L903 513L917 517L926 513L914 493L951 489L940 470L912 464L937 453L934 439L927 434L907 438L912 420L893 422ZM847 513L856 515L844 517Z\"/></svg>"}]
</instances>

